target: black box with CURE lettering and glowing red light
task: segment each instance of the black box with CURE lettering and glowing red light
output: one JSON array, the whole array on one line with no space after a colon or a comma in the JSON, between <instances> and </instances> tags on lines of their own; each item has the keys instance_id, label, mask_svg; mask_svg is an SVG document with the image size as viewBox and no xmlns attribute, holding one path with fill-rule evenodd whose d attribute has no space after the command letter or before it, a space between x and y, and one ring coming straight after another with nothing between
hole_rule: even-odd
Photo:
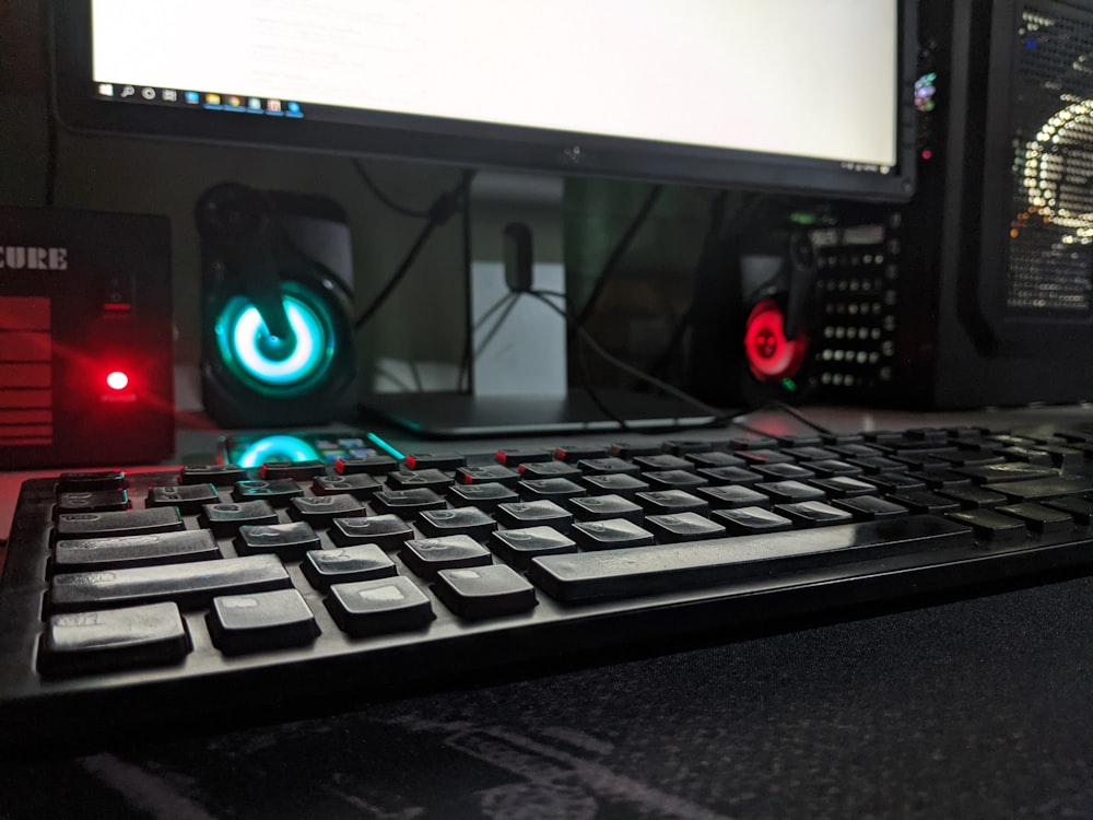
<instances>
[{"instance_id":1,"label":"black box with CURE lettering and glowing red light","mask_svg":"<svg viewBox=\"0 0 1093 820\"><path fill-rule=\"evenodd\" d=\"M171 225L0 208L0 469L175 448Z\"/></svg>"}]
</instances>

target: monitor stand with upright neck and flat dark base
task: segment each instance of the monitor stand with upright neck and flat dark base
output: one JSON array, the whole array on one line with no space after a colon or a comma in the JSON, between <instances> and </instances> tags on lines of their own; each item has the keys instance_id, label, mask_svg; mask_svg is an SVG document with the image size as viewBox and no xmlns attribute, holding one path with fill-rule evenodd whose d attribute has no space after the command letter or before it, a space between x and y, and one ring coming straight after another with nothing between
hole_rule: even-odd
<instances>
[{"instance_id":1,"label":"monitor stand with upright neck and flat dark base","mask_svg":"<svg viewBox=\"0 0 1093 820\"><path fill-rule=\"evenodd\" d=\"M694 426L713 417L677 399L569 387L561 177L479 173L468 203L468 393L375 394L367 410L426 436Z\"/></svg>"}]
</instances>

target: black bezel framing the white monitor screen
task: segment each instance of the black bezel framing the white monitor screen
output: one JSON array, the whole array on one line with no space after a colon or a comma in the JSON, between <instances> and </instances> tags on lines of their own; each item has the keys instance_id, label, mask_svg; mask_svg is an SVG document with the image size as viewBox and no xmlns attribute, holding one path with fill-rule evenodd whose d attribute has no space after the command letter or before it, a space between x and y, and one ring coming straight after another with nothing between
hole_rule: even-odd
<instances>
[{"instance_id":1,"label":"black bezel framing the white monitor screen","mask_svg":"<svg viewBox=\"0 0 1093 820\"><path fill-rule=\"evenodd\" d=\"M898 14L896 163L889 174L776 154L380 113L367 125L285 121L107 101L93 93L91 0L50 7L52 101L59 121L84 133L901 202L915 190L916 0L900 0Z\"/></svg>"}]
</instances>

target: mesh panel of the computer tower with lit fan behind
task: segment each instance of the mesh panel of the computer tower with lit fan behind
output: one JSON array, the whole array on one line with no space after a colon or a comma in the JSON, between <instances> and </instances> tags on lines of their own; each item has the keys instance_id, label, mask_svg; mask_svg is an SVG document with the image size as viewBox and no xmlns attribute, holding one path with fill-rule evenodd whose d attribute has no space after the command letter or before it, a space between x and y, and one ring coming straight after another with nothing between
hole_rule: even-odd
<instances>
[{"instance_id":1,"label":"mesh panel of the computer tower with lit fan behind","mask_svg":"<svg viewBox=\"0 0 1093 820\"><path fill-rule=\"evenodd\" d=\"M1026 2L1013 46L1010 309L1091 309L1093 13Z\"/></svg>"}]
</instances>

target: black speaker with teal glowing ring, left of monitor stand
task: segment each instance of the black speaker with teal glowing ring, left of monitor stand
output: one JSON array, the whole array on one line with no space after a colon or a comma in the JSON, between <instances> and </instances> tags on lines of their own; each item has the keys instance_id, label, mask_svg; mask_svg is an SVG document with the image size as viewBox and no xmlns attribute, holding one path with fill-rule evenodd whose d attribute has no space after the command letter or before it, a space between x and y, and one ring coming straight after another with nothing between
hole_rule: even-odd
<instances>
[{"instance_id":1,"label":"black speaker with teal glowing ring, left of monitor stand","mask_svg":"<svg viewBox=\"0 0 1093 820\"><path fill-rule=\"evenodd\" d=\"M215 186L201 237L201 388L224 427L325 424L355 406L349 226L329 199Z\"/></svg>"}]
</instances>

